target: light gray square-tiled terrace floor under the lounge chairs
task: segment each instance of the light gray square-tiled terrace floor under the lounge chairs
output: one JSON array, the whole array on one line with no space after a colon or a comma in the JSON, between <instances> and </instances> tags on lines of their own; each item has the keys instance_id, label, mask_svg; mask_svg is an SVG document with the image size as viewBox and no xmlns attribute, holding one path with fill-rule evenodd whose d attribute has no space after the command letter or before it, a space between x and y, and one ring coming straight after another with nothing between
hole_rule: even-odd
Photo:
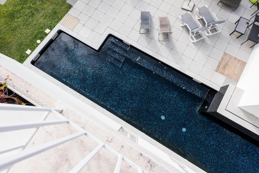
<instances>
[{"instance_id":1,"label":"light gray square-tiled terrace floor under the lounge chairs","mask_svg":"<svg viewBox=\"0 0 259 173\"><path fill-rule=\"evenodd\" d=\"M214 84L224 86L229 83L236 85L225 76L215 72L224 52L244 62L248 61L253 50L253 42L247 41L240 45L249 35L236 38L239 33L229 34L235 29L235 22L240 16L249 19L257 10L252 8L249 0L242 0L239 8L233 8L218 0L192 0L195 2L192 16L195 18L195 9L207 5L211 13L215 13L219 20L227 20L219 27L220 33L208 36L203 40L192 43L189 39L189 31L179 25L178 16L186 11L181 9L183 0L79 0L68 12L80 19L73 29L74 32L96 43L105 30L109 27L133 41L147 47L178 65L198 74ZM150 11L151 30L149 34L139 34L140 11ZM169 40L158 40L159 16L169 18ZM253 21L253 19L252 19Z\"/></svg>"}]
</instances>

